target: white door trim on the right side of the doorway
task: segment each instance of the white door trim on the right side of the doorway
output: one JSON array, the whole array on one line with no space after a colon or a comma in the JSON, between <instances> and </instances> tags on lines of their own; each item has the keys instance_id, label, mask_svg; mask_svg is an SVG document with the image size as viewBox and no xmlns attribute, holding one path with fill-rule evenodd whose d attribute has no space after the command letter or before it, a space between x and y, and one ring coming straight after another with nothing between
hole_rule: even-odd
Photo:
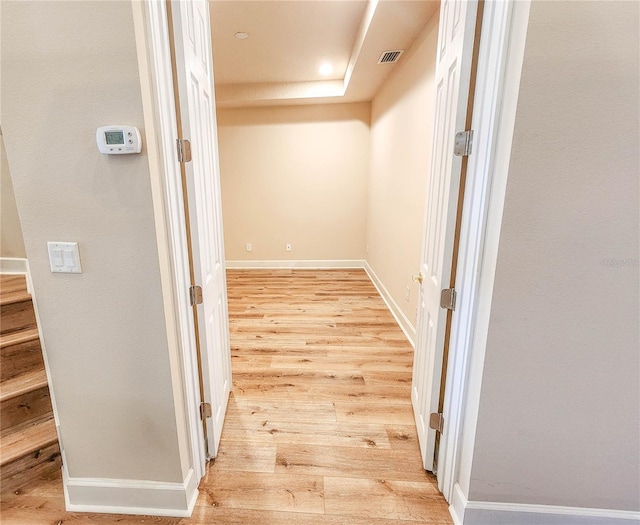
<instances>
[{"instance_id":1,"label":"white door trim on the right side of the doorway","mask_svg":"<svg viewBox=\"0 0 640 525\"><path fill-rule=\"evenodd\" d=\"M530 0L484 5L438 456L438 485L450 503L455 490L465 498L469 491Z\"/></svg>"}]
</instances>

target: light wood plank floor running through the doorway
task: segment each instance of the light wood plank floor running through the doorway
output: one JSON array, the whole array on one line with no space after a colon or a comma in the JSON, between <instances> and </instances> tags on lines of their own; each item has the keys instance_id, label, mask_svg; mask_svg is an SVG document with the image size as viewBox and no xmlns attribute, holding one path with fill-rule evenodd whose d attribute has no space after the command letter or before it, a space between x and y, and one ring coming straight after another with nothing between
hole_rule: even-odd
<instances>
[{"instance_id":1,"label":"light wood plank floor running through the doorway","mask_svg":"<svg viewBox=\"0 0 640 525\"><path fill-rule=\"evenodd\" d=\"M451 523L421 467L413 352L362 270L229 270L233 386L190 519L64 511L59 476L2 524Z\"/></svg>"}]
</instances>

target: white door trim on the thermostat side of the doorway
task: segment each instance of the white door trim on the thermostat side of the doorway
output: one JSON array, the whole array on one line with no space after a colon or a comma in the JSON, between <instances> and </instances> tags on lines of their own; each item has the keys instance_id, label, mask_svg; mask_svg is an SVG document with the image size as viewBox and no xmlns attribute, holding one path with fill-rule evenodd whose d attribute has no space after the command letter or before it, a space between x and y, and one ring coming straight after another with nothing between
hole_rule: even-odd
<instances>
[{"instance_id":1,"label":"white door trim on the thermostat side of the doorway","mask_svg":"<svg viewBox=\"0 0 640 525\"><path fill-rule=\"evenodd\" d=\"M189 302L189 250L182 178L175 140L177 119L171 67L169 21L165 2L132 2L138 42L140 83L145 116L147 154L152 179L154 214L158 231L162 289L167 325L173 330L169 344L178 357L171 364L175 388L180 396L188 427L188 447L196 479L205 474L204 431L198 417L200 386L193 310ZM140 48L143 49L140 49ZM164 265L163 265L164 263ZM165 267L167 266L168 267ZM167 306L167 304L169 306ZM183 423L184 425L184 423ZM180 428L178 422L178 428ZM180 432L180 431L179 431ZM197 483L196 483L197 486Z\"/></svg>"}]
</instances>

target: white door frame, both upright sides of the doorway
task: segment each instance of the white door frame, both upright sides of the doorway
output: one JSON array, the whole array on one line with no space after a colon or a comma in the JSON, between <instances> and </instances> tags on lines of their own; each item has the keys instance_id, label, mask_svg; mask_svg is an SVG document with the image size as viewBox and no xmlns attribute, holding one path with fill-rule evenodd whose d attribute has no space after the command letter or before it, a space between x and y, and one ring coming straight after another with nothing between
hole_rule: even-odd
<instances>
[{"instance_id":1,"label":"white door frame, both upright sides of the doorway","mask_svg":"<svg viewBox=\"0 0 640 525\"><path fill-rule=\"evenodd\" d=\"M480 386L489 327L502 211L531 0L484 2L474 101L474 153L469 157L444 405L445 433L438 483L456 522L467 502ZM174 385L182 389L192 466L204 475L200 403L182 187L175 151L177 129L165 3L132 0L138 42L147 149L165 316L179 359ZM145 52L141 52L140 50ZM175 170L175 171L174 171ZM167 176L167 174L171 176ZM470 183L469 181L472 181ZM436 371L440 374L440 371ZM174 389L177 387L174 387Z\"/></svg>"}]
</instances>

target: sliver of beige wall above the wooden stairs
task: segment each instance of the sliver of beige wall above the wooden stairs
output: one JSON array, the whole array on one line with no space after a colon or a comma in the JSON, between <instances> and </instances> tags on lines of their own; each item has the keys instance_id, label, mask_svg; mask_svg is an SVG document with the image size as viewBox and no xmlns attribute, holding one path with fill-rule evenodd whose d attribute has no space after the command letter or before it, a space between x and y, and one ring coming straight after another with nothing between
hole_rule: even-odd
<instances>
[{"instance_id":1,"label":"sliver of beige wall above the wooden stairs","mask_svg":"<svg viewBox=\"0 0 640 525\"><path fill-rule=\"evenodd\" d=\"M26 257L4 137L0 135L0 257Z\"/></svg>"}]
</instances>

